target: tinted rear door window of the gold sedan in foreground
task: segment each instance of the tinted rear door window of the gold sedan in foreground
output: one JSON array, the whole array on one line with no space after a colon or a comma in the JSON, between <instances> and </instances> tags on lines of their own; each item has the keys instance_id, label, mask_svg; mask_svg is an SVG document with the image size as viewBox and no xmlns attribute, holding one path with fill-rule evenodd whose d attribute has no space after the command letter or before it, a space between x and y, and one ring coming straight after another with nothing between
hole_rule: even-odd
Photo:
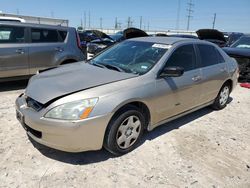
<instances>
[{"instance_id":1,"label":"tinted rear door window of the gold sedan in foreground","mask_svg":"<svg viewBox=\"0 0 250 188\"><path fill-rule=\"evenodd\" d=\"M200 52L201 67L215 65L225 61L220 52L214 46L198 44L198 49Z\"/></svg>"}]
</instances>

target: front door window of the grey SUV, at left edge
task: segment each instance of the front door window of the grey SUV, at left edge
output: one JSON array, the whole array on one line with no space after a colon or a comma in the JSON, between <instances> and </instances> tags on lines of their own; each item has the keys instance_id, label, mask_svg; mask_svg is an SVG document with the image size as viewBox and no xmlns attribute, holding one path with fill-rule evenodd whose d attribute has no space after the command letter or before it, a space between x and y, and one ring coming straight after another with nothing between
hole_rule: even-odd
<instances>
[{"instance_id":1,"label":"front door window of the grey SUV, at left edge","mask_svg":"<svg viewBox=\"0 0 250 188\"><path fill-rule=\"evenodd\" d=\"M0 26L0 43L23 43L24 27Z\"/></svg>"}]
</instances>

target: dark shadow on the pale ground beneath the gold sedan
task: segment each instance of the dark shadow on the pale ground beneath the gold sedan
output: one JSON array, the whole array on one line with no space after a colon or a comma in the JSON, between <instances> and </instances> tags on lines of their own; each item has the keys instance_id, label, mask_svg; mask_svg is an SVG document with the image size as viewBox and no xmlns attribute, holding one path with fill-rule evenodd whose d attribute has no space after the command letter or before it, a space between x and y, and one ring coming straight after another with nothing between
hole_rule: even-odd
<instances>
[{"instance_id":1,"label":"dark shadow on the pale ground beneath the gold sedan","mask_svg":"<svg viewBox=\"0 0 250 188\"><path fill-rule=\"evenodd\" d=\"M233 98L229 98L229 102L232 102ZM203 117L214 110L210 107L206 107L203 109L200 109L198 111L195 111L193 113L190 113L188 115L185 115L181 118L178 118L176 120L173 120L169 123L165 123L157 128L155 128L153 131L146 132L143 135L142 141L139 144L142 145L146 140L153 140L163 134L166 134L172 130L178 129L179 127L182 127L186 125L189 122L194 121L195 119L198 119L200 117ZM107 152L105 149L101 149L99 151L87 151L87 152L80 152L80 153L68 153L59 151L56 149L49 148L47 146L41 145L31 138L29 138L31 143L34 145L35 148L37 148L44 156L61 161L64 163L69 163L73 165L85 165L85 164L91 164L91 163L98 163L105 160L108 160L110 158L115 158L117 156L114 156ZM132 151L133 152L133 151Z\"/></svg>"}]
</instances>

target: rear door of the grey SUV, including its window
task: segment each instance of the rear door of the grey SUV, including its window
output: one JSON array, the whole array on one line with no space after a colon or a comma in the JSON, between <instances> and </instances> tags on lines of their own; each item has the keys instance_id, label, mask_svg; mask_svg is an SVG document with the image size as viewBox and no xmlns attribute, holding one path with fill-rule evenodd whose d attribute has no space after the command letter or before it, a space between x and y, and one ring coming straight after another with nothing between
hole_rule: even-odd
<instances>
[{"instance_id":1,"label":"rear door of the grey SUV, including its window","mask_svg":"<svg viewBox=\"0 0 250 188\"><path fill-rule=\"evenodd\" d=\"M29 45L30 74L58 65L65 43L56 29L31 28Z\"/></svg>"}]
</instances>

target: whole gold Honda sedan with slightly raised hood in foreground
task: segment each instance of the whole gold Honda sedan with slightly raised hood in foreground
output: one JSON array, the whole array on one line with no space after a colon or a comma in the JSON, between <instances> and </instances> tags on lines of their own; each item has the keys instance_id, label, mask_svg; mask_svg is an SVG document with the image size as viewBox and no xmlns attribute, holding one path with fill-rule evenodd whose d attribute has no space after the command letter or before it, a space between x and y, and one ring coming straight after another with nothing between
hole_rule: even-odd
<instances>
[{"instance_id":1,"label":"whole gold Honda sedan with slightly raised hood in foreground","mask_svg":"<svg viewBox=\"0 0 250 188\"><path fill-rule=\"evenodd\" d=\"M33 76L16 100L17 118L35 141L69 152L133 150L145 129L212 105L222 109L237 63L196 39L142 37L87 63Z\"/></svg>"}]
</instances>

